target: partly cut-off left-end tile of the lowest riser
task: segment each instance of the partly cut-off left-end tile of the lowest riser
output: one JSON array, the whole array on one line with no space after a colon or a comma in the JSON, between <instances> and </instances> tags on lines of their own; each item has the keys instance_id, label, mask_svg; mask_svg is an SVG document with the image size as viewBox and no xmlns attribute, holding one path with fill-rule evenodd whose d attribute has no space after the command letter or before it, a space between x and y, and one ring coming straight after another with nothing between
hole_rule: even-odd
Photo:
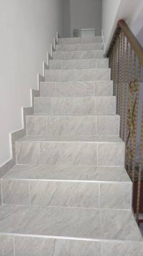
<instances>
[{"instance_id":1,"label":"partly cut-off left-end tile of the lowest riser","mask_svg":"<svg viewBox=\"0 0 143 256\"><path fill-rule=\"evenodd\" d=\"M0 252L1 256L15 256L12 236L0 234Z\"/></svg>"}]
</instances>

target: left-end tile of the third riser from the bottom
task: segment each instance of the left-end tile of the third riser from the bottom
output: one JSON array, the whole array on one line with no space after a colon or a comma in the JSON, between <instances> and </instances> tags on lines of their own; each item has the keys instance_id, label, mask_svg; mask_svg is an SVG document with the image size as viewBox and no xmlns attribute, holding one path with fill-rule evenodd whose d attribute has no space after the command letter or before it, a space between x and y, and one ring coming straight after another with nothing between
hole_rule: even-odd
<instances>
[{"instance_id":1,"label":"left-end tile of the third riser from the bottom","mask_svg":"<svg viewBox=\"0 0 143 256\"><path fill-rule=\"evenodd\" d=\"M39 143L16 142L17 163L39 164Z\"/></svg>"}]
</instances>

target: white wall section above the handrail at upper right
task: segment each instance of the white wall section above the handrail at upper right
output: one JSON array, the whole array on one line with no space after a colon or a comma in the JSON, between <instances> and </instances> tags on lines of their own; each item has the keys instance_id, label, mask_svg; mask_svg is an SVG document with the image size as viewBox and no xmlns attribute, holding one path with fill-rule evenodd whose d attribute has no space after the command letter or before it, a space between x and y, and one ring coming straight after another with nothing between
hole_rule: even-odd
<instances>
[{"instance_id":1,"label":"white wall section above the handrail at upper right","mask_svg":"<svg viewBox=\"0 0 143 256\"><path fill-rule=\"evenodd\" d=\"M102 29L104 35L105 54L109 48L113 33L120 19L124 19L130 26L135 13L137 14L138 5L142 0L102 0Z\"/></svg>"}]
</instances>

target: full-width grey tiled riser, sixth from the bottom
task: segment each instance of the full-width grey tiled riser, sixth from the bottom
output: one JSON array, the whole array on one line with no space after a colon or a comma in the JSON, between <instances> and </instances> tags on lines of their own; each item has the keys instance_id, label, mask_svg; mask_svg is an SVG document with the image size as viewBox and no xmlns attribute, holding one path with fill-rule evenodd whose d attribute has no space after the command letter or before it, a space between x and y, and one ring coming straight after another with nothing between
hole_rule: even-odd
<instances>
[{"instance_id":1,"label":"full-width grey tiled riser, sixth from the bottom","mask_svg":"<svg viewBox=\"0 0 143 256\"><path fill-rule=\"evenodd\" d=\"M41 82L42 97L112 96L112 81Z\"/></svg>"}]
</instances>

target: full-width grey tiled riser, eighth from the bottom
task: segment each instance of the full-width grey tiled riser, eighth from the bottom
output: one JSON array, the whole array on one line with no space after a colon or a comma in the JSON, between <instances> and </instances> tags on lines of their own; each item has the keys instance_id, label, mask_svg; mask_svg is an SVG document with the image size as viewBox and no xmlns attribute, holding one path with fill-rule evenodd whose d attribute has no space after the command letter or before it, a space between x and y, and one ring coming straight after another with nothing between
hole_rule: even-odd
<instances>
[{"instance_id":1,"label":"full-width grey tiled riser, eighth from the bottom","mask_svg":"<svg viewBox=\"0 0 143 256\"><path fill-rule=\"evenodd\" d=\"M71 59L71 60L50 60L50 69L106 69L108 59Z\"/></svg>"}]
</instances>

